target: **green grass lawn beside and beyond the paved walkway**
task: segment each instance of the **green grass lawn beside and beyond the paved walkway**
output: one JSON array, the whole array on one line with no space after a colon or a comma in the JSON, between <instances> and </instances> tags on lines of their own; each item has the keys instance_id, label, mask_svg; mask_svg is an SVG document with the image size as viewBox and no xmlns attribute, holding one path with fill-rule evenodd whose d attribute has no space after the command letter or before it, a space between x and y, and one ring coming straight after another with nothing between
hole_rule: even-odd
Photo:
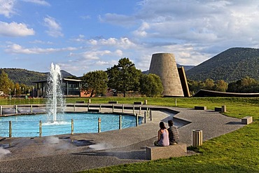
<instances>
[{"instance_id":1,"label":"green grass lawn beside and beyond the paved walkway","mask_svg":"<svg viewBox=\"0 0 259 173\"><path fill-rule=\"evenodd\" d=\"M73 98L66 99L66 102L87 102L88 99ZM235 132L205 141L203 146L198 148L200 155L90 169L85 172L259 172L259 98L94 97L91 98L91 102L102 104L113 100L119 104L132 104L135 101L144 102L145 99L148 100L148 104L161 106L175 106L176 103L179 107L207 106L207 109L214 109L226 105L226 116L253 116L253 123ZM45 101L38 99L37 102ZM8 104L6 99L0 99L0 105L4 104Z\"/></svg>"}]
</instances>

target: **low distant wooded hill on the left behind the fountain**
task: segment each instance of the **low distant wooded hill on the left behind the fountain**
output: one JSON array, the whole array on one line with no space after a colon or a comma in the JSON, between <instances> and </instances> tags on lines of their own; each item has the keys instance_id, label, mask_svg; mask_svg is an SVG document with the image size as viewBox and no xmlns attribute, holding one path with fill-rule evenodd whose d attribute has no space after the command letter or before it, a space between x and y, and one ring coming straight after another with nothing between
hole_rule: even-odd
<instances>
[{"instance_id":1,"label":"low distant wooded hill on the left behind the fountain","mask_svg":"<svg viewBox=\"0 0 259 173\"><path fill-rule=\"evenodd\" d=\"M10 78L13 83L24 83L25 85L34 85L33 81L44 81L48 78L48 73L41 73L36 71L29 71L27 69L11 69L11 68L4 68L0 69L1 71L5 71L8 74L8 78ZM64 78L68 76L73 76L68 72L61 70L62 76Z\"/></svg>"}]
</instances>

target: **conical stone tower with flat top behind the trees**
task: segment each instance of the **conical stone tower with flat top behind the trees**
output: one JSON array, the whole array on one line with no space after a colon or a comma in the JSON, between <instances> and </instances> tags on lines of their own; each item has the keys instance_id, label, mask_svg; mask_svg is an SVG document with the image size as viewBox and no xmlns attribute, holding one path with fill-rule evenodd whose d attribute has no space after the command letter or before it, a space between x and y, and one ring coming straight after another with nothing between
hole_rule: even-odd
<instances>
[{"instance_id":1,"label":"conical stone tower with flat top behind the trees","mask_svg":"<svg viewBox=\"0 0 259 173\"><path fill-rule=\"evenodd\" d=\"M160 76L164 87L162 93L164 97L184 97L174 54L153 54L149 74Z\"/></svg>"}]
</instances>

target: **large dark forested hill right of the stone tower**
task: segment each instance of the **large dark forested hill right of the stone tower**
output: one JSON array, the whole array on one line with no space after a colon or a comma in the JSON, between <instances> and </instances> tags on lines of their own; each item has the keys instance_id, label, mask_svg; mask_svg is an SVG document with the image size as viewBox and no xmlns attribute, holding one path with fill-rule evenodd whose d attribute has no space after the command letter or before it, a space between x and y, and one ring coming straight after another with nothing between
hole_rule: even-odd
<instances>
[{"instance_id":1,"label":"large dark forested hill right of the stone tower","mask_svg":"<svg viewBox=\"0 0 259 173\"><path fill-rule=\"evenodd\" d=\"M195 81L211 78L229 83L246 76L259 81L259 49L230 48L186 71L186 76Z\"/></svg>"}]
</instances>

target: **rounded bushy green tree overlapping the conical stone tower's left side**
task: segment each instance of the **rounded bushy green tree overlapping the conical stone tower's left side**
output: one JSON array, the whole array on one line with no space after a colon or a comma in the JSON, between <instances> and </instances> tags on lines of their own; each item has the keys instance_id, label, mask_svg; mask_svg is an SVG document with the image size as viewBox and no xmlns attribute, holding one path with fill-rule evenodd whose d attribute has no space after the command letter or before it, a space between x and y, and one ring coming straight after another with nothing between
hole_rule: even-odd
<instances>
[{"instance_id":1,"label":"rounded bushy green tree overlapping the conical stone tower's left side","mask_svg":"<svg viewBox=\"0 0 259 173\"><path fill-rule=\"evenodd\" d=\"M160 76L156 74L142 74L140 78L141 95L157 97L162 95L164 88Z\"/></svg>"}]
</instances>

